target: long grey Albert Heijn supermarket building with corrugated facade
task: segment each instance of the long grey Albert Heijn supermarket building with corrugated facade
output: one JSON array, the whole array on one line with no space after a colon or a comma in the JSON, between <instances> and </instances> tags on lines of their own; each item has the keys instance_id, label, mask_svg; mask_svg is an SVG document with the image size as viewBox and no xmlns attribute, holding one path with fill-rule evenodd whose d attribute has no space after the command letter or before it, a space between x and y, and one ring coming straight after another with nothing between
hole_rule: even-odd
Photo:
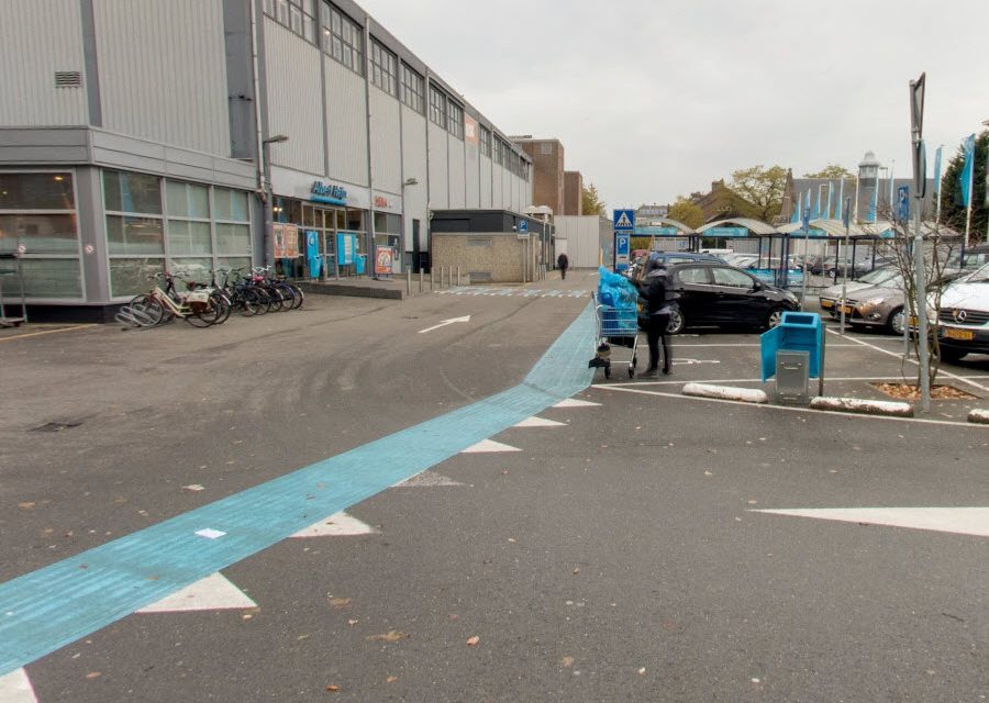
<instances>
[{"instance_id":1,"label":"long grey Albert Heijn supermarket building with corrugated facade","mask_svg":"<svg viewBox=\"0 0 989 703\"><path fill-rule=\"evenodd\" d=\"M532 159L348 0L0 4L0 253L99 316L147 276L429 266L431 213L533 204ZM521 215L520 215L521 216Z\"/></svg>"}]
</instances>

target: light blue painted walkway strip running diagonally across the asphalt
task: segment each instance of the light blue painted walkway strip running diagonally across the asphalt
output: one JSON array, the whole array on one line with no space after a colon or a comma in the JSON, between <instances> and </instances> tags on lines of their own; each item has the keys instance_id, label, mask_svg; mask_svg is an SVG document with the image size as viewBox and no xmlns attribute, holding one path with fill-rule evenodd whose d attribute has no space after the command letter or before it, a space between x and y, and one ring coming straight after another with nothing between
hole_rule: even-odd
<instances>
[{"instance_id":1,"label":"light blue painted walkway strip running diagonally across the asphalt","mask_svg":"<svg viewBox=\"0 0 989 703\"><path fill-rule=\"evenodd\" d=\"M582 391L594 330L588 306L515 388L0 584L0 676Z\"/></svg>"}]
</instances>

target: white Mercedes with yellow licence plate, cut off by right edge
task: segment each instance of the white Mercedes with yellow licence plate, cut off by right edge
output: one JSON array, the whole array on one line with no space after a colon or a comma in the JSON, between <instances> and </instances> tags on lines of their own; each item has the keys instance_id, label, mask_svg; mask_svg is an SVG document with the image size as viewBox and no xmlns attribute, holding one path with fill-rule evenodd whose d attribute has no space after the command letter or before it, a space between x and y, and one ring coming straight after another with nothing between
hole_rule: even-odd
<instances>
[{"instance_id":1,"label":"white Mercedes with yellow licence plate, cut off by right edge","mask_svg":"<svg viewBox=\"0 0 989 703\"><path fill-rule=\"evenodd\" d=\"M989 354L989 264L948 284L941 294L941 358Z\"/></svg>"}]
</instances>

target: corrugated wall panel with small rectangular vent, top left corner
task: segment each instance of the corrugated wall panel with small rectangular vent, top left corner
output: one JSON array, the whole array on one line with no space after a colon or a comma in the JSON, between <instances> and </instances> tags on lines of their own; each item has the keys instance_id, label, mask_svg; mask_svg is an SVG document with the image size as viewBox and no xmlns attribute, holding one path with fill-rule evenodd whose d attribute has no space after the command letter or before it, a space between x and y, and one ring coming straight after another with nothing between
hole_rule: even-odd
<instances>
[{"instance_id":1,"label":"corrugated wall panel with small rectangular vent, top left corner","mask_svg":"<svg viewBox=\"0 0 989 703\"><path fill-rule=\"evenodd\" d=\"M79 0L11 2L0 18L0 124L86 124L86 88L56 88L55 71L85 72Z\"/></svg>"}]
</instances>

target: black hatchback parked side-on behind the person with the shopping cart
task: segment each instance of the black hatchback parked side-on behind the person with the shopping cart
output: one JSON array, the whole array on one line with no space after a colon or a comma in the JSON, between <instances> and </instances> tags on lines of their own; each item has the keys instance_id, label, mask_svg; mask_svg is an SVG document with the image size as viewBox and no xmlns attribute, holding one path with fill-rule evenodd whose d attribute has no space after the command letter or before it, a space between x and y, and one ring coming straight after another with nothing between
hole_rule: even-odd
<instances>
[{"instance_id":1,"label":"black hatchback parked side-on behind the person with the shopping cart","mask_svg":"<svg viewBox=\"0 0 989 703\"><path fill-rule=\"evenodd\" d=\"M679 309L670 317L670 334L694 326L775 327L784 312L800 308L793 293L726 264L677 264L669 277Z\"/></svg>"}]
</instances>

